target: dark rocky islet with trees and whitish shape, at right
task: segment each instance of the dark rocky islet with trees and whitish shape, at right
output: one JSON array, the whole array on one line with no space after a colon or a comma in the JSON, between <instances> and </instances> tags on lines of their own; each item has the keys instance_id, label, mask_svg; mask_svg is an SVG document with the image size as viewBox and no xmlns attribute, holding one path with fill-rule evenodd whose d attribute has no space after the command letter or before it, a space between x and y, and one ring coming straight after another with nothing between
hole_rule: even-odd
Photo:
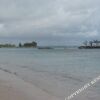
<instances>
[{"instance_id":1,"label":"dark rocky islet with trees and whitish shape, at right","mask_svg":"<svg viewBox=\"0 0 100 100\"><path fill-rule=\"evenodd\" d=\"M82 46L78 47L79 49L100 49L100 41L85 41Z\"/></svg>"}]
</instances>

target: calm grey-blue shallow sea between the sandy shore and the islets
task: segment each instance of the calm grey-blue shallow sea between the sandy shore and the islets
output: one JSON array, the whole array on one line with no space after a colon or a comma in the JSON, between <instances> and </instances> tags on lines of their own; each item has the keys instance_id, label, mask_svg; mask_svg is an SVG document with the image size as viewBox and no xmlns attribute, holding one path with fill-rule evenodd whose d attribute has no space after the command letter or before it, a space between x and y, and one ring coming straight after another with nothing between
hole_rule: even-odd
<instances>
[{"instance_id":1,"label":"calm grey-blue shallow sea between the sandy shore and the islets","mask_svg":"<svg viewBox=\"0 0 100 100\"><path fill-rule=\"evenodd\" d=\"M64 100L100 76L100 49L1 48L0 70ZM73 100L100 100L100 81Z\"/></svg>"}]
</instances>

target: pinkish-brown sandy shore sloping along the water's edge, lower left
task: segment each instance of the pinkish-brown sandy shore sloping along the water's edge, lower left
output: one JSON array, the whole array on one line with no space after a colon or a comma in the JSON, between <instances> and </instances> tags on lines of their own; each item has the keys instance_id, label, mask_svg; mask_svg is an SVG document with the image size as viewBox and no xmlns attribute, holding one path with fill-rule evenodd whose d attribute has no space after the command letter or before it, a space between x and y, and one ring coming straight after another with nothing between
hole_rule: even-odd
<instances>
[{"instance_id":1,"label":"pinkish-brown sandy shore sloping along the water's edge, lower left","mask_svg":"<svg viewBox=\"0 0 100 100\"><path fill-rule=\"evenodd\" d=\"M0 100L60 100L16 75L0 70Z\"/></svg>"}]
</instances>

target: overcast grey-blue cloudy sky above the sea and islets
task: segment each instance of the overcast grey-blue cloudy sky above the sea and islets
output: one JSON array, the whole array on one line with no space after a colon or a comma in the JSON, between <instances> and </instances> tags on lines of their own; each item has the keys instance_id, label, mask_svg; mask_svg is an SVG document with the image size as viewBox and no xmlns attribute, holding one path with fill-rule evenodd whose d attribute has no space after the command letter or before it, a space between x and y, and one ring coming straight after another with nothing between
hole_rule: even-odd
<instances>
[{"instance_id":1,"label":"overcast grey-blue cloudy sky above the sea and islets","mask_svg":"<svg viewBox=\"0 0 100 100\"><path fill-rule=\"evenodd\" d=\"M0 42L79 45L99 27L100 0L0 0Z\"/></svg>"}]
</instances>

